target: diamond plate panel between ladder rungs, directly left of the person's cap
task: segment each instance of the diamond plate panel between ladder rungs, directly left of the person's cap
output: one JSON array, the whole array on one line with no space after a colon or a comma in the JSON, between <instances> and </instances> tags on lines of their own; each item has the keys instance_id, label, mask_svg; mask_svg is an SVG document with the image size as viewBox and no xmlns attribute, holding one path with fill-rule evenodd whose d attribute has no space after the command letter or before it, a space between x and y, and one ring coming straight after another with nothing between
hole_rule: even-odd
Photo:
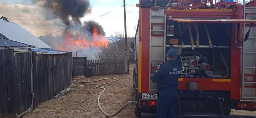
<instances>
[{"instance_id":1,"label":"diamond plate panel between ladder rungs, directly left of the person's cap","mask_svg":"<svg viewBox=\"0 0 256 118\"><path fill-rule=\"evenodd\" d=\"M151 47L151 60L164 59L164 47Z\"/></svg>"}]
</instances>

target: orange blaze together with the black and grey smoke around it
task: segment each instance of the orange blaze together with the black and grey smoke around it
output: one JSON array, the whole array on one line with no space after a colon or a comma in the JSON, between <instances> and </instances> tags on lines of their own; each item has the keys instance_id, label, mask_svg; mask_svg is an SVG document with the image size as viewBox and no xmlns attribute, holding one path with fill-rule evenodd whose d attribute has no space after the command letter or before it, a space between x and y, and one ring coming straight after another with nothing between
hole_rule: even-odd
<instances>
[{"instance_id":1,"label":"orange blaze together with the black and grey smoke around it","mask_svg":"<svg viewBox=\"0 0 256 118\"><path fill-rule=\"evenodd\" d=\"M53 49L72 51L73 56L76 56L77 51L81 51L81 56L93 58L93 51L108 47L108 38L99 23L80 20L91 13L89 0L34 0L34 3L40 3L42 7L50 9L67 27L60 32L61 36L39 37Z\"/></svg>"}]
</instances>

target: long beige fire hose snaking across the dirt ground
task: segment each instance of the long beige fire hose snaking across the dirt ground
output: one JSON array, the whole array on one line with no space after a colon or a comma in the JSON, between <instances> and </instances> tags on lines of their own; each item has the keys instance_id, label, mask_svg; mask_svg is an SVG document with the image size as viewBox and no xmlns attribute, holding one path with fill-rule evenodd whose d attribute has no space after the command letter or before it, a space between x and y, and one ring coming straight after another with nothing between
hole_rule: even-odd
<instances>
[{"instance_id":1,"label":"long beige fire hose snaking across the dirt ground","mask_svg":"<svg viewBox=\"0 0 256 118\"><path fill-rule=\"evenodd\" d=\"M88 81L88 82L80 82L80 81L76 81L76 80L73 80L73 81L78 82L78 83L92 83L92 82L98 82L98 81L109 80L109 79L111 79L111 80L114 79L114 80L111 81L111 82L107 82L107 83L101 83L101 84L98 84L98 85L96 86L97 88L103 89L102 92L100 93L100 95L98 96L97 101L98 101L98 107L99 107L100 111L101 111L105 116L107 116L107 117L114 117L114 116L116 116L117 114L119 114L121 111L123 111L125 107L127 107L127 106L129 106L129 105L135 105L135 104L136 104L134 101L129 101L129 102L127 102L124 106L122 106L119 110L117 110L114 114L107 114L107 113L101 108L101 106L100 106L100 96L101 96L101 95L103 94L103 92L105 91L105 88L104 88L104 87L99 87L99 86L100 86L100 85L104 85L104 84L108 84L108 83L113 83L113 82L117 81L118 79L116 79L116 78L104 78L104 79L95 80L95 81Z\"/></svg>"}]
</instances>

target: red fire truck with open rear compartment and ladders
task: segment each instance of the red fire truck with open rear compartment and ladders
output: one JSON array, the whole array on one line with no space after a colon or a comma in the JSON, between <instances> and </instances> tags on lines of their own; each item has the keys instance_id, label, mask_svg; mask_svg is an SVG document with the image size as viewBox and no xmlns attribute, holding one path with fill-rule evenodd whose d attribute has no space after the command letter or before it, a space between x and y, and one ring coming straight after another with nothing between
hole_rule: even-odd
<instances>
[{"instance_id":1,"label":"red fire truck with open rear compartment and ladders","mask_svg":"<svg viewBox=\"0 0 256 118\"><path fill-rule=\"evenodd\" d=\"M256 117L229 115L231 109L256 109L255 6L253 0L244 7L230 0L140 0L135 114L155 117L151 76L175 48L182 61L177 117Z\"/></svg>"}]
</instances>

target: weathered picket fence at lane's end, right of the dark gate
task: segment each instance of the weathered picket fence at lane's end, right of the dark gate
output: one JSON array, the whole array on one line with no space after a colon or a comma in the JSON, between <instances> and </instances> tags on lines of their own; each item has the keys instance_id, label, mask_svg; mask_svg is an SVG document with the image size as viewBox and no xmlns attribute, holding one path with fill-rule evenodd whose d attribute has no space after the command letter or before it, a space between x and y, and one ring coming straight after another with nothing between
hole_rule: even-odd
<instances>
[{"instance_id":1,"label":"weathered picket fence at lane's end, right of the dark gate","mask_svg":"<svg viewBox=\"0 0 256 118\"><path fill-rule=\"evenodd\" d=\"M129 74L129 60L127 58L87 60L87 64L88 76Z\"/></svg>"}]
</instances>

